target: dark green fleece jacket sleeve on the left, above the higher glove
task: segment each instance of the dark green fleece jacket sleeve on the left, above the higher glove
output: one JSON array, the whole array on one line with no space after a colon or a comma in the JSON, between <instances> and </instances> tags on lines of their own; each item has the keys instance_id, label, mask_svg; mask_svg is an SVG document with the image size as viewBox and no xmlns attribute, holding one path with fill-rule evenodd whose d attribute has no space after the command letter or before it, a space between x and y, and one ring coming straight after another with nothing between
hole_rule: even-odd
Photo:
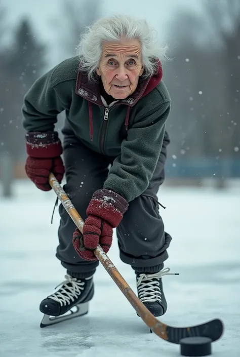
<instances>
[{"instance_id":1,"label":"dark green fleece jacket sleeve on the left, above the higher glove","mask_svg":"<svg viewBox=\"0 0 240 357\"><path fill-rule=\"evenodd\" d=\"M65 109L52 85L53 70L38 78L24 96L23 127L28 132L54 131L57 115Z\"/></svg>"}]
</instances>

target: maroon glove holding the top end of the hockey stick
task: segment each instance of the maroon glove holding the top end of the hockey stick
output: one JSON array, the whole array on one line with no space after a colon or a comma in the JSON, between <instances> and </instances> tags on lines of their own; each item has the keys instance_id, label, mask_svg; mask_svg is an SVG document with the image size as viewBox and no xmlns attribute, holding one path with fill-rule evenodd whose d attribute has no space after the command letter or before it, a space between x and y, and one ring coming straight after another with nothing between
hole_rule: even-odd
<instances>
[{"instance_id":1,"label":"maroon glove holding the top end of the hockey stick","mask_svg":"<svg viewBox=\"0 0 240 357\"><path fill-rule=\"evenodd\" d=\"M62 144L57 132L26 134L27 161L25 171L27 176L43 191L50 191L49 175L52 172L59 183L64 175L61 158Z\"/></svg>"}]
</instances>

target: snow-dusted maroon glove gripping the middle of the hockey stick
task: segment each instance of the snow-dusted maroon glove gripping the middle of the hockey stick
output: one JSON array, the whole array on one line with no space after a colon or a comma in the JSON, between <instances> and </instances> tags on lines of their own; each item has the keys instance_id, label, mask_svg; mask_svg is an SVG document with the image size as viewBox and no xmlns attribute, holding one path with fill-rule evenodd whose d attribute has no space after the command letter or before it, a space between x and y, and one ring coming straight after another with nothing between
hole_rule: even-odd
<instances>
[{"instance_id":1,"label":"snow-dusted maroon glove gripping the middle of the hockey stick","mask_svg":"<svg viewBox=\"0 0 240 357\"><path fill-rule=\"evenodd\" d=\"M128 202L119 194L100 189L93 194L87 208L83 234L75 229L72 242L77 254L85 260L97 260L94 250L98 244L107 253L112 244L113 229L121 222Z\"/></svg>"}]
</instances>

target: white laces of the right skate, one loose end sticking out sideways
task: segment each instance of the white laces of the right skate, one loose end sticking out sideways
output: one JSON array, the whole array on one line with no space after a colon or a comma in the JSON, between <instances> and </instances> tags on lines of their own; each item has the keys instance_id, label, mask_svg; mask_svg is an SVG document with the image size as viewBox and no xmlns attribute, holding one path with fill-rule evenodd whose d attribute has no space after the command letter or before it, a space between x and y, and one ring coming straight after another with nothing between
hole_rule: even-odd
<instances>
[{"instance_id":1,"label":"white laces of the right skate, one loose end sticking out sideways","mask_svg":"<svg viewBox=\"0 0 240 357\"><path fill-rule=\"evenodd\" d=\"M165 268L154 274L140 274L137 280L137 289L139 299L142 302L162 302L162 291L159 287L160 283L158 279L160 279L164 275L178 275L176 273L170 273L170 268ZM156 280L155 280L155 279Z\"/></svg>"}]
</instances>

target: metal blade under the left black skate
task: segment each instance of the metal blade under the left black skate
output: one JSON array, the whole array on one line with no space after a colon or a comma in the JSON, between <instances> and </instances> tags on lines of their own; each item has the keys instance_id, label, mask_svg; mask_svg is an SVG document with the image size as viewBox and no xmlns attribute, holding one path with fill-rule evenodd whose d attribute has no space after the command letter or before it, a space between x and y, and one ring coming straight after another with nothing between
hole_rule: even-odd
<instances>
[{"instance_id":1,"label":"metal blade under the left black skate","mask_svg":"<svg viewBox=\"0 0 240 357\"><path fill-rule=\"evenodd\" d=\"M50 325L57 324L62 321L77 318L78 316L83 316L88 313L89 303L85 302L73 306L69 311L60 316L50 316L44 314L43 320L41 321L40 327L46 327Z\"/></svg>"}]
</instances>

